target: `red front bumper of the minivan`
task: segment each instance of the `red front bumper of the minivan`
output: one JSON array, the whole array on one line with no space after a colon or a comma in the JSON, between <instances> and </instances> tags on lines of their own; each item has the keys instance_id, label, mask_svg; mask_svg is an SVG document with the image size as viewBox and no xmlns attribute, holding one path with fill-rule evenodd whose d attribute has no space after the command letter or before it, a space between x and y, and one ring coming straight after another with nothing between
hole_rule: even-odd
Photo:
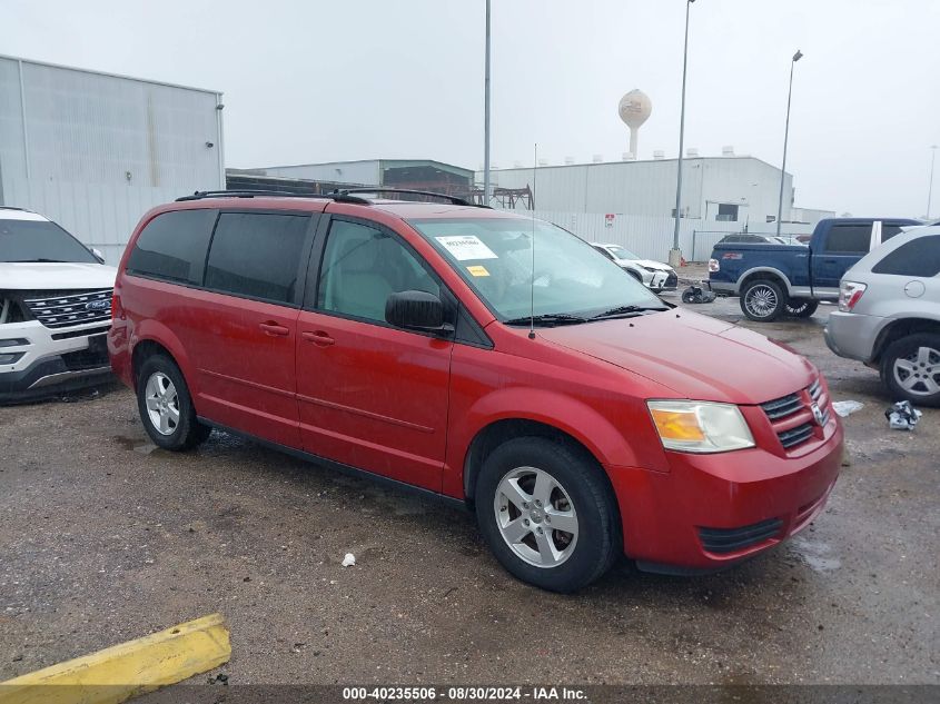
<instances>
[{"instance_id":1,"label":"red front bumper of the minivan","mask_svg":"<svg viewBox=\"0 0 940 704\"><path fill-rule=\"evenodd\" d=\"M793 452L666 453L669 472L606 467L621 507L624 552L646 569L721 569L766 551L823 509L839 476L837 415Z\"/></svg>"}]
</instances>

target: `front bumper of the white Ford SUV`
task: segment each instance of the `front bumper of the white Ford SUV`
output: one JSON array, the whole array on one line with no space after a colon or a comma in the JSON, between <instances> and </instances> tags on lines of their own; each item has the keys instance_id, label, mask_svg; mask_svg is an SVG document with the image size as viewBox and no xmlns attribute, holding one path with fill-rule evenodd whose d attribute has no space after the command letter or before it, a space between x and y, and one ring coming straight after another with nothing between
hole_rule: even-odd
<instances>
[{"instance_id":1,"label":"front bumper of the white Ford SUV","mask_svg":"<svg viewBox=\"0 0 940 704\"><path fill-rule=\"evenodd\" d=\"M0 403L107 381L111 378L105 344L108 327L52 330L37 321L0 326L0 340L6 343L0 353L17 357L13 364L0 364Z\"/></svg>"}]
</instances>

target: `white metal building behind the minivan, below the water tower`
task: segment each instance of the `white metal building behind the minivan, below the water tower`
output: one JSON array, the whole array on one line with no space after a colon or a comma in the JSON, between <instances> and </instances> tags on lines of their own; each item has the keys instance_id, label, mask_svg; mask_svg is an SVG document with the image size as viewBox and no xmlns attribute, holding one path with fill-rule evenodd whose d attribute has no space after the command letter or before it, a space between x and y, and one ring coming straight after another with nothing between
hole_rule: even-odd
<instances>
[{"instance_id":1,"label":"white metal building behind the minivan, below the water tower","mask_svg":"<svg viewBox=\"0 0 940 704\"><path fill-rule=\"evenodd\" d=\"M535 207L538 210L673 217L676 159L613 161L540 167ZM491 172L495 188L532 186L532 168ZM708 222L738 222L743 229L775 222L780 169L745 156L683 159L682 218ZM476 181L483 175L477 172ZM783 222L791 221L793 177L783 184ZM809 211L805 211L809 212ZM802 215L802 214L801 214Z\"/></svg>"}]
</instances>

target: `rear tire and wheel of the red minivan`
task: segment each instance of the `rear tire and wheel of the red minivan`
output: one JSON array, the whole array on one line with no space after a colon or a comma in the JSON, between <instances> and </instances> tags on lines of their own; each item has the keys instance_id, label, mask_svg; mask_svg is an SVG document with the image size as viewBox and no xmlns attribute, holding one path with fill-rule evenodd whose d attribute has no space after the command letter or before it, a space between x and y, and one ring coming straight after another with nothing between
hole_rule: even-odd
<instances>
[{"instance_id":1,"label":"rear tire and wheel of the red minivan","mask_svg":"<svg viewBox=\"0 0 940 704\"><path fill-rule=\"evenodd\" d=\"M152 355L140 366L137 408L147 435L164 449L190 449L212 432L196 419L196 408L182 373L166 355Z\"/></svg>"}]
</instances>

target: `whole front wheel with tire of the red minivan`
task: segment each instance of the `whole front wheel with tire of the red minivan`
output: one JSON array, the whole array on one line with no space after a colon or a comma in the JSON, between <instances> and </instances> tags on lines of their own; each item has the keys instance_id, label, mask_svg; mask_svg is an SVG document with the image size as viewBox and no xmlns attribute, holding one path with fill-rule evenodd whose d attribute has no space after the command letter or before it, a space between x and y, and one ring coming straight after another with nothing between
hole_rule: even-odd
<instances>
[{"instance_id":1,"label":"whole front wheel with tire of the red minivan","mask_svg":"<svg viewBox=\"0 0 940 704\"><path fill-rule=\"evenodd\" d=\"M485 459L476 490L481 533L518 579L575 592L622 552L616 500L603 470L542 437L508 440Z\"/></svg>"}]
</instances>

